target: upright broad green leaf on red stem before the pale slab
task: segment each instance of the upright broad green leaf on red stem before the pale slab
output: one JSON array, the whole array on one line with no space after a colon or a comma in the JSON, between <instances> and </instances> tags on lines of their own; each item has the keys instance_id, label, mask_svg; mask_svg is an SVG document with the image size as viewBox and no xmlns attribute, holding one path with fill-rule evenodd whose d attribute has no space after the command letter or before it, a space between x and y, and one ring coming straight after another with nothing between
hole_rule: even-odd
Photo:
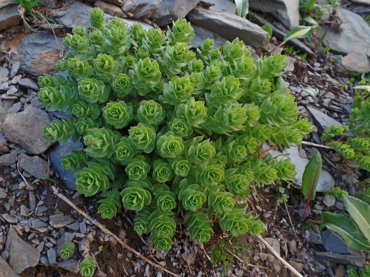
<instances>
[{"instance_id":1,"label":"upright broad green leaf on red stem before the pale slab","mask_svg":"<svg viewBox=\"0 0 370 277\"><path fill-rule=\"evenodd\" d=\"M305 172L303 172L302 177L302 192L307 200L315 199L322 164L321 155L320 153L317 153L311 158L305 167Z\"/></svg>"}]
</instances>

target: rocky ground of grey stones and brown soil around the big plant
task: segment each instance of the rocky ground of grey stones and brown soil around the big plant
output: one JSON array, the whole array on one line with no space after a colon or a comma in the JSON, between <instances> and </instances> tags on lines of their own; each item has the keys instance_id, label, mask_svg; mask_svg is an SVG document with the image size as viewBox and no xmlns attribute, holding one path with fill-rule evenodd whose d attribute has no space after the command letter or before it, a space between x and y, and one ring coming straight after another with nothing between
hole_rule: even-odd
<instances>
[{"instance_id":1,"label":"rocky ground of grey stones and brown soil around the big plant","mask_svg":"<svg viewBox=\"0 0 370 277\"><path fill-rule=\"evenodd\" d=\"M194 25L196 48L205 38L215 40L216 47L226 40L239 37L248 45L253 56L275 48L287 32L299 24L299 1L249 0L256 11L254 23L234 15L235 4L229 0L107 0L81 3L68 0L45 0L43 11L55 18L57 24L41 24L38 31L25 34L20 25L17 6L0 0L0 275L1 276L79 276L80 256L62 260L58 253L68 241L91 241L90 251L97 254L95 276L165 276L117 244L112 237L57 198L52 185L60 188L75 205L97 218L129 246L144 256L182 276L219 276L221 266L213 266L205 252L211 243L202 246L189 240L184 230L176 236L176 246L169 252L158 253L147 246L132 228L133 214L122 211L115 219L103 220L97 215L97 199L85 198L74 191L72 172L60 164L63 155L73 149L82 149L81 143L53 145L42 137L44 124L60 118L58 112L47 113L37 99L37 76L55 72L55 63L65 49L61 38L77 25L90 25L92 6L101 7L107 16L125 18L128 25L136 20L145 28L150 25L166 28L172 20L186 17ZM355 3L356 2L356 3ZM320 3L320 1L319 1ZM279 48L289 62L283 78L304 117L314 123L312 133L305 141L320 144L324 128L333 124L346 125L353 102L353 83L349 73L369 72L368 56L370 27L364 20L370 14L370 1L343 1L336 16L339 31L331 30L319 47L317 55L302 41L289 41L299 53ZM273 11L273 12L272 12ZM266 14L267 16L262 16ZM273 38L259 25L270 24ZM56 37L53 34L56 34ZM289 54L288 54L289 52ZM302 54L307 58L302 58ZM319 93L312 97L307 88ZM360 266L369 263L366 252L353 252L343 240L329 230L323 232L317 225L302 224L305 200L300 192L303 170L317 151L323 160L318 194L309 219L320 220L323 211L343 213L342 202L325 195L329 188L340 186L355 195L361 188L364 172L344 161L331 150L306 144L282 152L296 164L298 174L290 189L288 202L276 205L277 188L266 187L250 199L250 209L265 222L263 237L295 269L308 276L336 276L346 273L348 264ZM361 175L362 174L362 175ZM55 183L54 183L55 182ZM266 197L267 196L267 197ZM217 230L216 230L217 233ZM221 231L219 231L221 235ZM148 238L144 237L144 241ZM229 276L290 276L287 269L252 236L241 238L249 244L252 254L250 266L235 259ZM150 243L147 243L150 245ZM19 275L18 275L19 274Z\"/></svg>"}]
</instances>

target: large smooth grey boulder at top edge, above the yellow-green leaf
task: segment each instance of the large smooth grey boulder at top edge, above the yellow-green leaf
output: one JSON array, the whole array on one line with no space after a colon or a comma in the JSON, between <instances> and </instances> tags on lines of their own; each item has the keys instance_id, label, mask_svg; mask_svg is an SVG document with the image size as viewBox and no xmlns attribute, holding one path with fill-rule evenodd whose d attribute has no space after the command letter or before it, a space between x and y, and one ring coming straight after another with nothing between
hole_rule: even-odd
<instances>
[{"instance_id":1,"label":"large smooth grey boulder at top edge, above the yellow-green leaf","mask_svg":"<svg viewBox=\"0 0 370 277\"><path fill-rule=\"evenodd\" d=\"M299 0L249 0L249 8L271 14L289 30L299 25Z\"/></svg>"}]
</instances>

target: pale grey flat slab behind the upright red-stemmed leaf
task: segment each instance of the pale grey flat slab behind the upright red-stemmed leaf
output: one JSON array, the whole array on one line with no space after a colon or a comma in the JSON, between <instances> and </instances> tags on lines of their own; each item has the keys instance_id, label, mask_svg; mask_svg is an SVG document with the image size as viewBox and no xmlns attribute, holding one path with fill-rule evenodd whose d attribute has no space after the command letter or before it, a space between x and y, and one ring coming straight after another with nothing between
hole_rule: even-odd
<instances>
[{"instance_id":1,"label":"pale grey flat slab behind the upright red-stemmed leaf","mask_svg":"<svg viewBox=\"0 0 370 277\"><path fill-rule=\"evenodd\" d=\"M264 149L269 148L266 144L263 145ZM283 152L279 150L270 150L269 153L272 155L272 157L276 157L281 155L282 153L288 154L287 157L291 160L293 164L296 165L296 171L297 175L294 177L293 181L295 182L296 185L302 187L302 177L303 177L303 172L305 171L305 167L309 162L308 158L302 158L299 155L299 147L291 147L289 149L284 149ZM277 159L282 159L285 158L282 156L277 157ZM330 173L327 170L321 170L320 178L319 178L319 183L317 184L317 191L318 192L326 192L328 189L333 188L335 184L335 180L330 175Z\"/></svg>"}]
</instances>

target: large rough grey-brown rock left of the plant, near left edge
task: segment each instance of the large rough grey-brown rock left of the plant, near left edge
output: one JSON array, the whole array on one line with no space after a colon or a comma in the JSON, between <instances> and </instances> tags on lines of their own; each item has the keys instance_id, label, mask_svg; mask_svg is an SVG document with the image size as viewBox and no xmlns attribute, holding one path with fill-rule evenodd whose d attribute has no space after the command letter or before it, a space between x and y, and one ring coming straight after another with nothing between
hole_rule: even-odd
<instances>
[{"instance_id":1,"label":"large rough grey-brown rock left of the plant, near left edge","mask_svg":"<svg viewBox=\"0 0 370 277\"><path fill-rule=\"evenodd\" d=\"M43 137L43 127L50 122L46 112L28 106L23 112L6 115L3 124L5 137L30 154L40 154L53 144Z\"/></svg>"}]
</instances>

